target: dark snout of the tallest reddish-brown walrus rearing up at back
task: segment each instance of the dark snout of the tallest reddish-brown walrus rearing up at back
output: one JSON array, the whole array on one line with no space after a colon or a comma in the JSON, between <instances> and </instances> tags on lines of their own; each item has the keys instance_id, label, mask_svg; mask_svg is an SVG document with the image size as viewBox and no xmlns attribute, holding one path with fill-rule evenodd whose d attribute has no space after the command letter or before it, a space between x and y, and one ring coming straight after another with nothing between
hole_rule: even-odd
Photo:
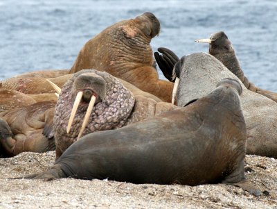
<instances>
[{"instance_id":1,"label":"dark snout of the tallest reddish-brown walrus rearing up at back","mask_svg":"<svg viewBox=\"0 0 277 209\"><path fill-rule=\"evenodd\" d=\"M161 24L159 19L151 13L151 12L144 12L142 15L136 17L141 19L143 22L147 22L147 24L143 24L143 28L141 29L143 33L149 35L151 38L159 35L161 30Z\"/></svg>"}]
</instances>

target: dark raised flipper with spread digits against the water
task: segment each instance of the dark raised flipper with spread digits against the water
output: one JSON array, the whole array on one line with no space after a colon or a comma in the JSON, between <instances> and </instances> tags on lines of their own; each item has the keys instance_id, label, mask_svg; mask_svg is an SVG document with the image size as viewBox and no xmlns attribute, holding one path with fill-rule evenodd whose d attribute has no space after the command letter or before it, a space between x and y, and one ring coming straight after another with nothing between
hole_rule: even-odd
<instances>
[{"instance_id":1,"label":"dark raised flipper with spread digits against the water","mask_svg":"<svg viewBox=\"0 0 277 209\"><path fill-rule=\"evenodd\" d=\"M159 55L156 51L154 53L154 57L159 65L159 68L161 69L161 72L163 72L163 75L168 78L169 81L175 82L175 78L172 78L172 73L176 62L179 61L178 56L170 49L163 47L158 48L158 51L162 54Z\"/></svg>"}]
</instances>

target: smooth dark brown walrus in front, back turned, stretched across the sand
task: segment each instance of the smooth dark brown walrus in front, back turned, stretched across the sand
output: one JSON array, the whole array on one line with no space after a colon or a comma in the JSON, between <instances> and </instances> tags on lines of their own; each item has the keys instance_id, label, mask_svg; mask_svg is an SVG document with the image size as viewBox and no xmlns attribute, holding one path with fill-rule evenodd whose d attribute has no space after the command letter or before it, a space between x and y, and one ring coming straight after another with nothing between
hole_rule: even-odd
<instances>
[{"instance_id":1,"label":"smooth dark brown walrus in front, back turned, stretched across the sand","mask_svg":"<svg viewBox=\"0 0 277 209\"><path fill-rule=\"evenodd\" d=\"M129 183L245 187L246 125L240 83L226 79L184 108L82 137L46 172L24 178L93 178Z\"/></svg>"}]
</instances>

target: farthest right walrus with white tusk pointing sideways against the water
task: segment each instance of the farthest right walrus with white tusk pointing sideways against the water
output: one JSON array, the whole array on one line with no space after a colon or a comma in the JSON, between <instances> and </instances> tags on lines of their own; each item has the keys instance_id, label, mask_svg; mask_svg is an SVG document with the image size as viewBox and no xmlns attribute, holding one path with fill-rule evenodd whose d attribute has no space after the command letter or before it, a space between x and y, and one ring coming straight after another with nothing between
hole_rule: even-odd
<instances>
[{"instance_id":1,"label":"farthest right walrus with white tusk pointing sideways against the water","mask_svg":"<svg viewBox=\"0 0 277 209\"><path fill-rule=\"evenodd\" d=\"M251 83L242 71L240 62L235 55L235 49L233 48L227 35L223 32L217 32L211 35L210 39L198 39L195 42L204 42L209 44L208 53L220 60L235 76L240 78L240 81L252 92L257 92L263 96L277 101L277 93L268 90L263 90Z\"/></svg>"}]
</instances>

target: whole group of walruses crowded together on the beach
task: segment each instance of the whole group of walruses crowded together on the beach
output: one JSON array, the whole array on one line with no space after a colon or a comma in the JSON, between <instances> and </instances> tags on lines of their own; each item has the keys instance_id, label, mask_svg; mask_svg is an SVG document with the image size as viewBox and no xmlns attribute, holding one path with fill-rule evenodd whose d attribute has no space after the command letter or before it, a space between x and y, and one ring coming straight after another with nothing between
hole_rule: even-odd
<instances>
[{"instance_id":1,"label":"whole group of walruses crowded together on the beach","mask_svg":"<svg viewBox=\"0 0 277 209\"><path fill-rule=\"evenodd\" d=\"M230 183L260 195L244 156L277 158L277 94L247 80L224 32L196 40L209 54L179 59L153 53L160 28L145 12L89 40L71 69L1 81L0 157L55 150L53 167L24 178Z\"/></svg>"}]
</instances>

